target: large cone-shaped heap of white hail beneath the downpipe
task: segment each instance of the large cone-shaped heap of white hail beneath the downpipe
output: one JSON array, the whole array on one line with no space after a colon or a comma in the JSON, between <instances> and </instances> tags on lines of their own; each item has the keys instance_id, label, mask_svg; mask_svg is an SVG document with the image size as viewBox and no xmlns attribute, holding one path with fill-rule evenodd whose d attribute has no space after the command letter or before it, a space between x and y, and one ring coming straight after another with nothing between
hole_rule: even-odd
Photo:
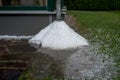
<instances>
[{"instance_id":1,"label":"large cone-shaped heap of white hail beneath the downpipe","mask_svg":"<svg viewBox=\"0 0 120 80\"><path fill-rule=\"evenodd\" d=\"M89 45L87 40L71 29L64 21L54 21L41 30L29 43L38 48L55 50L79 48Z\"/></svg>"}]
</instances>

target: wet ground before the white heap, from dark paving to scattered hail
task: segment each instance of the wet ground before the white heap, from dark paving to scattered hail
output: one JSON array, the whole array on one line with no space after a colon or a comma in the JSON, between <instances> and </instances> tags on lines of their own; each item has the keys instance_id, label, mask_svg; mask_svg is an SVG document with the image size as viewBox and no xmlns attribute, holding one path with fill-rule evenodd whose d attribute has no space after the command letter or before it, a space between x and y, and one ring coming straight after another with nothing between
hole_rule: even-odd
<instances>
[{"instance_id":1,"label":"wet ground before the white heap, from dark paving to scattered hail","mask_svg":"<svg viewBox=\"0 0 120 80\"><path fill-rule=\"evenodd\" d=\"M116 75L114 63L109 56L97 54L99 47L91 42L79 49L36 50L28 40L0 40L0 80L16 80L26 71L37 79L111 80Z\"/></svg>"}]
</instances>

